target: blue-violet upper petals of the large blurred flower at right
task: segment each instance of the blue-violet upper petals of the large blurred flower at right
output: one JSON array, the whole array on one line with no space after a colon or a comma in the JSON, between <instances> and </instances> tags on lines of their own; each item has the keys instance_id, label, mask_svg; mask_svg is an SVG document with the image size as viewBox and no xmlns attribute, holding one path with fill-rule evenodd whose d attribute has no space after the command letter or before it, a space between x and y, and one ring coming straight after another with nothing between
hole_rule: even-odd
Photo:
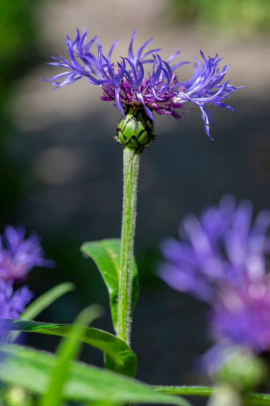
<instances>
[{"instance_id":1,"label":"blue-violet upper petals of the large blurred flower at right","mask_svg":"<svg viewBox=\"0 0 270 406\"><path fill-rule=\"evenodd\" d=\"M159 276L174 289L212 303L222 286L240 287L265 275L265 250L270 212L261 211L252 222L252 206L225 195L197 219L188 216L180 228L181 240L161 244L165 261Z\"/></svg>"}]
</instances>

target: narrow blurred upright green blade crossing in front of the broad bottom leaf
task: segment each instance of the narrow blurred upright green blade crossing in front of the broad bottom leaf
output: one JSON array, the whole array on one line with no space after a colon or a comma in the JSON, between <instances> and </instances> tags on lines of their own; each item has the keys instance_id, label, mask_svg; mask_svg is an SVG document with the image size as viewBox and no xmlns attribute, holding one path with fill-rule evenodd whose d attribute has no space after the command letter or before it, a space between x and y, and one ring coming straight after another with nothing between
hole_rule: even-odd
<instances>
[{"instance_id":1,"label":"narrow blurred upright green blade crossing in front of the broad bottom leaf","mask_svg":"<svg viewBox=\"0 0 270 406\"><path fill-rule=\"evenodd\" d=\"M95 318L102 315L102 308L98 304L92 304L84 309L75 320L68 338L62 339L56 351L58 355L52 370L50 382L45 395L42 397L40 406L61 406L63 388L70 375L70 361L76 359L82 346L80 341L84 335L85 325L90 324Z\"/></svg>"}]
</instances>

